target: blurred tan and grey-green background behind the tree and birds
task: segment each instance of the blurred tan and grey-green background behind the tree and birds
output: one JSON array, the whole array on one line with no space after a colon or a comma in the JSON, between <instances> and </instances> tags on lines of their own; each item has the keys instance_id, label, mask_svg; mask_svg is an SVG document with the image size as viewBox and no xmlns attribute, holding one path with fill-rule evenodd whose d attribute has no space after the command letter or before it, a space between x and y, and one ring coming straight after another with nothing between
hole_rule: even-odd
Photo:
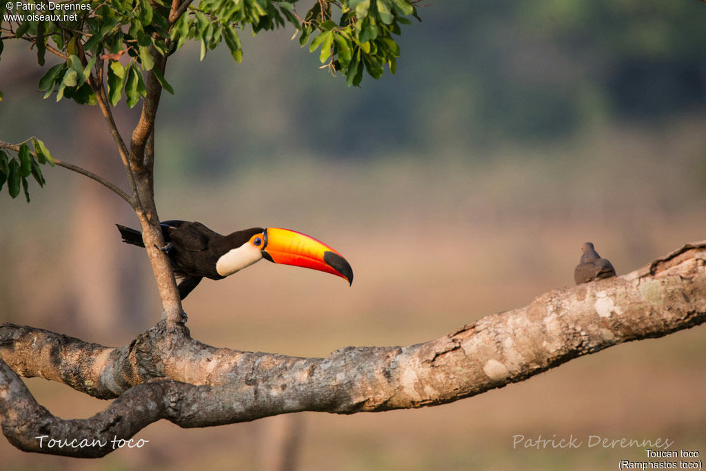
<instances>
[{"instance_id":1,"label":"blurred tan and grey-green background behind the tree and birds","mask_svg":"<svg viewBox=\"0 0 706 471\"><path fill-rule=\"evenodd\" d=\"M591 241L618 275L706 239L706 5L697 0L430 1L404 27L397 74L347 88L289 28L170 59L157 119L163 220L218 232L296 229L352 264L348 287L258 263L184 302L194 338L325 356L406 345L573 285ZM221 48L224 49L224 48ZM48 60L46 68L52 66ZM42 100L28 44L6 42L0 138L119 182L100 112ZM119 105L124 138L138 108ZM32 203L0 197L0 321L123 345L160 317L138 225L95 182L56 167ZM642 448L513 449L513 436L669 439L706 452L706 330L575 359L441 407L302 413L210 429L150 425L102 460L23 453L3 469L510 470L616 467ZM106 403L25 380L64 418Z\"/></svg>"}]
</instances>

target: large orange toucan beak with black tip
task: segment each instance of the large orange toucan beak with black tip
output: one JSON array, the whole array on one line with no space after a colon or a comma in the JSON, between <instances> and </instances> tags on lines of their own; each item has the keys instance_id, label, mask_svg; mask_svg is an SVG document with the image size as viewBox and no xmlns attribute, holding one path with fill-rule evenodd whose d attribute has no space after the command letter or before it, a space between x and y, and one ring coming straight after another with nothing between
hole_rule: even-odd
<instances>
[{"instance_id":1,"label":"large orange toucan beak with black tip","mask_svg":"<svg viewBox=\"0 0 706 471\"><path fill-rule=\"evenodd\" d=\"M301 232L268 227L261 249L263 258L275 263L294 265L338 275L353 283L353 270L337 251Z\"/></svg>"}]
</instances>

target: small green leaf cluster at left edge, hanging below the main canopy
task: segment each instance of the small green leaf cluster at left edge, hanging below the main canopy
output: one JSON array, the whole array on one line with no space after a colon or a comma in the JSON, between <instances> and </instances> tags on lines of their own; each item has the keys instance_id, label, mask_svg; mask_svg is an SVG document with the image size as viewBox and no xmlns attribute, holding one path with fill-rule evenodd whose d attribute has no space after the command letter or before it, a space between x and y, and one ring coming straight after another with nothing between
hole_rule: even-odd
<instances>
[{"instance_id":1,"label":"small green leaf cluster at left edge, hanging below the main canopy","mask_svg":"<svg viewBox=\"0 0 706 471\"><path fill-rule=\"evenodd\" d=\"M54 167L54 159L47 146L37 138L32 138L31 142L35 149L34 155L26 142L19 146L16 156L8 155L5 150L0 149L0 190L7 183L8 193L12 198L17 198L22 186L28 203L30 202L28 177L31 175L39 186L44 186L47 181L44 180L39 164L48 162Z\"/></svg>"}]
</instances>

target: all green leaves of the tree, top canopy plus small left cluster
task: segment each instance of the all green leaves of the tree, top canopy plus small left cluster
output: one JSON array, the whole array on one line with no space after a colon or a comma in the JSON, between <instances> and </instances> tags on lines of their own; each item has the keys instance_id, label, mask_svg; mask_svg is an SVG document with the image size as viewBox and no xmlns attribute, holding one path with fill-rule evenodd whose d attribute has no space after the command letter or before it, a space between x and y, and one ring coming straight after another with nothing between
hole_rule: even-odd
<instances>
[{"instance_id":1,"label":"all green leaves of the tree, top canopy plus small left cluster","mask_svg":"<svg viewBox=\"0 0 706 471\"><path fill-rule=\"evenodd\" d=\"M47 52L61 58L40 80L44 98L56 94L57 102L66 97L81 105L95 105L104 96L113 107L123 97L128 107L134 107L140 97L147 96L145 74L151 74L173 94L164 78L164 63L187 40L201 43L202 60L209 50L225 42L233 59L241 62L239 31L247 25L256 35L291 23L301 32L301 45L311 39L309 50L321 48L321 62L334 74L342 71L348 85L359 85L364 70L380 78L385 64L395 72L400 47L393 35L400 34L400 24L410 23L405 16L416 16L410 0L309 1L313 6L304 18L297 14L297 0L201 0L196 4L192 0L66 4L30 0L15 4L27 9L14 12L6 12L6 6L12 4L3 2L0 15L8 13L11 17L2 23L0 56L3 40L31 42L40 66L44 66ZM40 10L47 6L54 9ZM37 162L54 164L42 141L33 139L32 143L36 161L26 143L20 145L16 157L0 153L1 184L7 182L13 198L20 193L21 185L27 201L30 174L44 185Z\"/></svg>"}]
</instances>

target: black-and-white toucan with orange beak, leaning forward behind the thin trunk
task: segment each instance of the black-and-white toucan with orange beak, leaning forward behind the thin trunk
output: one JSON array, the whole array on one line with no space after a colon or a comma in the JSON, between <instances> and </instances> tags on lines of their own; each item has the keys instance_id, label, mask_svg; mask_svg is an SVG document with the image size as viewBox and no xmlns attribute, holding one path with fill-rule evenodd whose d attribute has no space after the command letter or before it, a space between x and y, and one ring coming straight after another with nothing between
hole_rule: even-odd
<instances>
[{"instance_id":1,"label":"black-and-white toucan with orange beak, leaning forward behind the thin trunk","mask_svg":"<svg viewBox=\"0 0 706 471\"><path fill-rule=\"evenodd\" d=\"M179 296L189 295L201 278L221 280L265 258L274 263L313 268L353 282L353 270L337 251L301 232L277 227L251 227L221 235L201 222L164 221L164 247L179 283ZM116 224L123 242L144 247L142 232Z\"/></svg>"}]
</instances>

